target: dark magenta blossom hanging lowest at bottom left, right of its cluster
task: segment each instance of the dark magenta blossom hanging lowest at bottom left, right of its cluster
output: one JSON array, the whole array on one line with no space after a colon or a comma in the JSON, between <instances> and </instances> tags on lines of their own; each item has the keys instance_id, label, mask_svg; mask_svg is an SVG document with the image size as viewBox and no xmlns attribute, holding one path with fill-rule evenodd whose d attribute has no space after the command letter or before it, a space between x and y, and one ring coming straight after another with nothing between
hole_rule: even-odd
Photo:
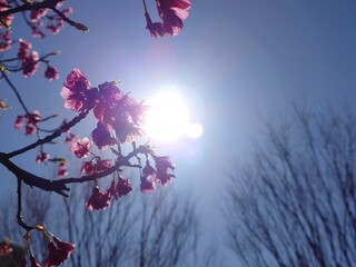
<instances>
[{"instance_id":1,"label":"dark magenta blossom hanging lowest at bottom left, right of its cluster","mask_svg":"<svg viewBox=\"0 0 356 267\"><path fill-rule=\"evenodd\" d=\"M73 244L65 243L57 237L53 237L53 241L48 244L48 256L44 263L46 267L55 267L63 264L76 247Z\"/></svg>"}]
</instances>

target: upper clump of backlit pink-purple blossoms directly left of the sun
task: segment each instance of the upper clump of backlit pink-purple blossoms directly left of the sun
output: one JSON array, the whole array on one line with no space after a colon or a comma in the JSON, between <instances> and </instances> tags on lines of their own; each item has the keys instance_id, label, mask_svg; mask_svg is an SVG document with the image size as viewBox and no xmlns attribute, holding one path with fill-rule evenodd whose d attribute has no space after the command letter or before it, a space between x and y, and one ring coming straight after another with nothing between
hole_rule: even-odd
<instances>
[{"instance_id":1,"label":"upper clump of backlit pink-purple blossoms directly left of the sun","mask_svg":"<svg viewBox=\"0 0 356 267\"><path fill-rule=\"evenodd\" d=\"M98 123L91 136L100 150L118 142L130 142L144 134L141 123L147 107L129 95L123 95L116 82L105 82L98 88L91 88L82 71L75 69L67 77L61 96L68 109L93 110ZM83 147L80 142L72 146L72 152L76 151L78 158L89 156L85 149L88 150L91 146Z\"/></svg>"}]
</instances>

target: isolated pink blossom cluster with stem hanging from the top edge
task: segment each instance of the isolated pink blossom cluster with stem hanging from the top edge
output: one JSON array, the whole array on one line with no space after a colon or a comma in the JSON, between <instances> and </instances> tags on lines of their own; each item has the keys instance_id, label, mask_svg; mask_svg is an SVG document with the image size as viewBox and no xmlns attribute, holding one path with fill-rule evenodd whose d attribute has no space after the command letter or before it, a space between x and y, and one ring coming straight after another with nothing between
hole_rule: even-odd
<instances>
[{"instance_id":1,"label":"isolated pink blossom cluster with stem hanging from the top edge","mask_svg":"<svg viewBox=\"0 0 356 267\"><path fill-rule=\"evenodd\" d=\"M156 38L165 33L177 36L184 28L182 21L189 16L191 0L156 0L156 4L162 22L152 22L145 4L146 29Z\"/></svg>"}]
</instances>

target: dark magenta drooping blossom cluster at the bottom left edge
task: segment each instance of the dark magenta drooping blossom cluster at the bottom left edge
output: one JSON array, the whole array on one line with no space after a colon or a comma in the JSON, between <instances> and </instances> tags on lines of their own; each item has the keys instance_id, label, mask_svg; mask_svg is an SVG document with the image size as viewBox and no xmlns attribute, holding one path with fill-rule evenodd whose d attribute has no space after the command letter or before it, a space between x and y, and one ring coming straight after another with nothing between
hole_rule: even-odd
<instances>
[{"instance_id":1,"label":"dark magenta drooping blossom cluster at the bottom left edge","mask_svg":"<svg viewBox=\"0 0 356 267\"><path fill-rule=\"evenodd\" d=\"M39 230L43 234L43 239L47 244L48 255L43 264L43 266L46 267L56 267L56 266L62 265L76 248L75 244L60 240L58 237L53 236L51 233L46 230L44 226L42 225L37 226L33 229ZM29 241L30 241L30 231L28 231L24 235L26 254L27 253L29 254L31 267L41 267L42 265L37 261L34 255L30 249ZM26 266L27 266L27 259L24 256L21 261L21 267L26 267Z\"/></svg>"}]
</instances>

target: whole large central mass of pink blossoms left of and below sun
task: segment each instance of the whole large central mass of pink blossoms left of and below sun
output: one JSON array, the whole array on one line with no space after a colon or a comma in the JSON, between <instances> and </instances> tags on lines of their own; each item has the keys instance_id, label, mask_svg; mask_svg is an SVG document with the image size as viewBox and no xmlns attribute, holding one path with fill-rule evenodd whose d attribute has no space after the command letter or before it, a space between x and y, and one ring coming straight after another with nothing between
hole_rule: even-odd
<instances>
[{"instance_id":1,"label":"whole large central mass of pink blossoms left of and below sun","mask_svg":"<svg viewBox=\"0 0 356 267\"><path fill-rule=\"evenodd\" d=\"M129 179L121 178L121 167L136 167L141 169L142 192L156 189L156 184L166 186L175 176L170 174L175 165L167 156L157 156L148 146L136 147L136 137L142 135L141 126L147 107L135 100L128 93L123 93L116 82L105 82L98 88L91 87L89 80L79 69L72 70L61 90L65 99L65 107L81 113L92 110L97 127L91 131L91 138L83 137L71 141L71 152L80 159L89 158L81 164L80 171L87 177L92 176L95 186L86 207L89 210L103 210L110 207L111 199L118 199L130 191L132 185ZM67 123L67 122L66 122ZM131 142L134 150L123 156L121 145ZM116 160L102 159L92 152L93 145L99 151L110 148ZM146 155L146 166L142 168L139 154ZM155 168L150 166L148 157L155 161ZM138 165L131 165L129 160L136 158ZM110 174L118 174L112 179L107 190L100 190L98 177L106 177Z\"/></svg>"}]
</instances>

